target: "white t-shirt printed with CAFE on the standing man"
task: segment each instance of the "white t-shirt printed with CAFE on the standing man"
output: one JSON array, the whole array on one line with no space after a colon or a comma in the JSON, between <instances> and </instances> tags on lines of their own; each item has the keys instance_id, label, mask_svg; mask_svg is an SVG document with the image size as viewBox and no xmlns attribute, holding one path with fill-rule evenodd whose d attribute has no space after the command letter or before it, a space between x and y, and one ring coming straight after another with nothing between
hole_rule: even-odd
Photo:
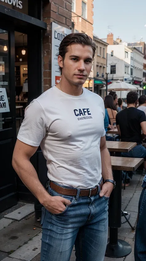
<instances>
[{"instance_id":1,"label":"white t-shirt printed with CAFE on the standing man","mask_svg":"<svg viewBox=\"0 0 146 261\"><path fill-rule=\"evenodd\" d=\"M83 88L80 96L72 96L53 86L26 108L18 139L41 146L51 181L91 188L101 179L104 114L99 95Z\"/></svg>"}]
</instances>

